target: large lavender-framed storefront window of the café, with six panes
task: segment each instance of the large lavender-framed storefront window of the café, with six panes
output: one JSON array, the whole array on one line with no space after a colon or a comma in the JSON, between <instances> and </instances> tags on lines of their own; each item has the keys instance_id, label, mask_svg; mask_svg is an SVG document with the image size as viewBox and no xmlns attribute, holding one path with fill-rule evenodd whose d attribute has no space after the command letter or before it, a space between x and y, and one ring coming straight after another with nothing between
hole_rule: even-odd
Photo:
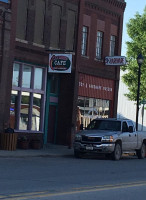
<instances>
[{"instance_id":1,"label":"large lavender-framed storefront window of the caf\u00e9, with six panes","mask_svg":"<svg viewBox=\"0 0 146 200\"><path fill-rule=\"evenodd\" d=\"M10 124L16 130L43 131L45 68L14 63ZM18 80L19 81L16 81ZM43 81L42 81L43 80ZM19 82L19 83L18 83ZM17 86L17 87L16 87ZM37 91L37 93L36 93Z\"/></svg>"}]
</instances>

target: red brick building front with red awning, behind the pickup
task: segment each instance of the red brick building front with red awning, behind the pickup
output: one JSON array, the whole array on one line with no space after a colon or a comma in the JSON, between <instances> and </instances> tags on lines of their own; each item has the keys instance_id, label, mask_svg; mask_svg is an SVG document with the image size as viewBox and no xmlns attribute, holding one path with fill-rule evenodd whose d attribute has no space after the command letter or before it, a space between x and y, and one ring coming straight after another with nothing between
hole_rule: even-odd
<instances>
[{"instance_id":1,"label":"red brick building front with red awning, behind the pickup","mask_svg":"<svg viewBox=\"0 0 146 200\"><path fill-rule=\"evenodd\" d=\"M117 0L81 1L77 76L78 125L96 117L116 117L118 66L106 66L106 56L121 55L123 14L126 3Z\"/></svg>"}]
</instances>

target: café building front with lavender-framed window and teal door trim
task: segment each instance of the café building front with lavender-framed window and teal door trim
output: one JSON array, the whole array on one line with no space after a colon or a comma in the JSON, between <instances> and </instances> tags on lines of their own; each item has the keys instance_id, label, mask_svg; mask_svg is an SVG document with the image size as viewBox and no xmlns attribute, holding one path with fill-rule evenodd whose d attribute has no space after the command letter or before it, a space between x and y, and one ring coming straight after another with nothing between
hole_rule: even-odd
<instances>
[{"instance_id":1,"label":"caf\u00e9 building front with lavender-framed window and teal door trim","mask_svg":"<svg viewBox=\"0 0 146 200\"><path fill-rule=\"evenodd\" d=\"M10 126L19 135L37 135L44 143L56 143L58 121L65 128L72 121L75 56L71 73L64 74L48 72L49 55L75 52L79 1L18 0L14 4ZM63 138L63 142L67 141Z\"/></svg>"}]
</instances>

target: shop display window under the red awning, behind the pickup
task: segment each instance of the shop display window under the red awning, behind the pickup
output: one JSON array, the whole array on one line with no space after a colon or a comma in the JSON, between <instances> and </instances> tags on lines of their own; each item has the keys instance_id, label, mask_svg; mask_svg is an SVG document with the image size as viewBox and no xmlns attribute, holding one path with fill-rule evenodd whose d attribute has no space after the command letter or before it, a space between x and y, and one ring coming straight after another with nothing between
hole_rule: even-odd
<instances>
[{"instance_id":1,"label":"shop display window under the red awning, behind the pickup","mask_svg":"<svg viewBox=\"0 0 146 200\"><path fill-rule=\"evenodd\" d=\"M87 127L95 118L108 118L109 102L103 99L78 97L78 108L83 127Z\"/></svg>"}]
</instances>

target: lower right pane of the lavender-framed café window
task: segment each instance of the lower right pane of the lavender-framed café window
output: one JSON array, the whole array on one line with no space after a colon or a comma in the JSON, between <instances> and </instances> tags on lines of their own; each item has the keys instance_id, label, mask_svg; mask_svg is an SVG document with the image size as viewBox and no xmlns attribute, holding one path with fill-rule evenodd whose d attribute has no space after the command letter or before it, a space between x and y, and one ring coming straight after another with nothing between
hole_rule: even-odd
<instances>
[{"instance_id":1,"label":"lower right pane of the lavender-framed caf\u00e9 window","mask_svg":"<svg viewBox=\"0 0 146 200\"><path fill-rule=\"evenodd\" d=\"M33 94L33 108L32 108L32 130L39 131L40 129L40 108L41 108L41 95Z\"/></svg>"}]
</instances>

